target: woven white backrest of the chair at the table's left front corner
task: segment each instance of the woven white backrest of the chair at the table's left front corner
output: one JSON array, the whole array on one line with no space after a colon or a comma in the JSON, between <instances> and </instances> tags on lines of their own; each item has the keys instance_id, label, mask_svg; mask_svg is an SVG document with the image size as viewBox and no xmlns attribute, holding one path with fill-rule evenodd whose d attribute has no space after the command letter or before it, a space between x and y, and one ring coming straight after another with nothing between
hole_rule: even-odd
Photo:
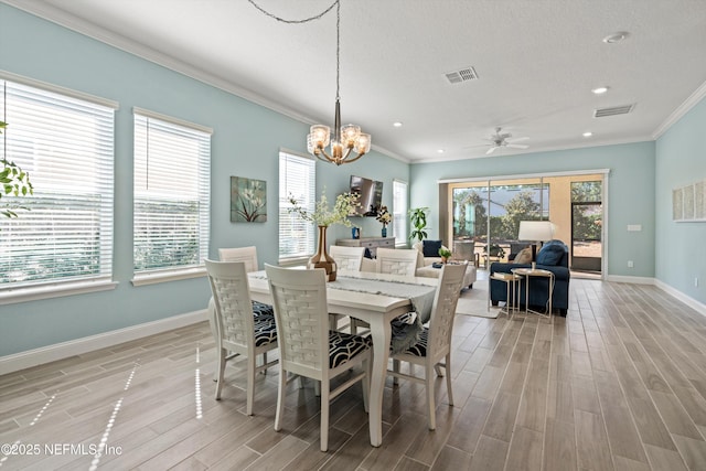
<instances>
[{"instance_id":1,"label":"woven white backrest of the chair at the table's left front corner","mask_svg":"<svg viewBox=\"0 0 706 471\"><path fill-rule=\"evenodd\" d=\"M244 261L205 260L218 341L228 350L255 349L253 302Z\"/></svg>"}]
</instances>

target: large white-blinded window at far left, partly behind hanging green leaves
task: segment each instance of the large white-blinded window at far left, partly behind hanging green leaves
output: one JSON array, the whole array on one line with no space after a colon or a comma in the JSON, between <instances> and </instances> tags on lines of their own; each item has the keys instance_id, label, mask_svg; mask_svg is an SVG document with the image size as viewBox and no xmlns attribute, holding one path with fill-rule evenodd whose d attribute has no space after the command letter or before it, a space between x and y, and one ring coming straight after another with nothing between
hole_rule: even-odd
<instances>
[{"instance_id":1,"label":"large white-blinded window at far left, partly behind hanging green leaves","mask_svg":"<svg viewBox=\"0 0 706 471\"><path fill-rule=\"evenodd\" d=\"M26 207L15 211L18 218L0 216L3 300L17 302L30 291L46 298L86 281L111 283L116 108L101 98L0 76L0 119L9 125L0 158L29 172L34 186L31 196L0 200Z\"/></svg>"}]
</instances>

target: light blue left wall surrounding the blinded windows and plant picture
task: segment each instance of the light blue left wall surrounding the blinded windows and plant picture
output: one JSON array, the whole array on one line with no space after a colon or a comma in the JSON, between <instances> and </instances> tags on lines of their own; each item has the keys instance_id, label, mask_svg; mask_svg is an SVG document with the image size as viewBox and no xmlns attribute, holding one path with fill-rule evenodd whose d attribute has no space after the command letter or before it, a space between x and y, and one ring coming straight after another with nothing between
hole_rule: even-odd
<instances>
[{"instance_id":1,"label":"light blue left wall surrounding the blinded windows and plant picture","mask_svg":"<svg viewBox=\"0 0 706 471\"><path fill-rule=\"evenodd\" d=\"M109 98L116 113L115 291L0 306L0 356L204 309L205 278L133 287L132 107L208 126L212 139L211 257L218 247L255 245L260 264L277 263L278 151L306 153L308 125L211 87L151 62L0 3L0 69ZM373 137L374 139L374 137ZM408 180L409 167L372 152L335 168L317 163L317 183L329 197L346 191L351 173L384 182L392 205L392 180ZM234 224L229 176L267 182L268 221ZM373 224L375 223L375 224ZM0 221L0 224L2 222ZM379 224L365 221L365 235ZM330 237L350 237L345 227Z\"/></svg>"}]
</instances>

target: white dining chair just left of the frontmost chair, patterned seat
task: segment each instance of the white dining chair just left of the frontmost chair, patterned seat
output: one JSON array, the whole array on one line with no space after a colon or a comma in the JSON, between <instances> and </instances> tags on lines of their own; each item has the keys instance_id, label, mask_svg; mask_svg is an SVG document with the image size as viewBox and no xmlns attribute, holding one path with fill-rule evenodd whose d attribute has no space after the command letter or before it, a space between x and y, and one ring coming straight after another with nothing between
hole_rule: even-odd
<instances>
[{"instance_id":1,"label":"white dining chair just left of the frontmost chair, patterned seat","mask_svg":"<svg viewBox=\"0 0 706 471\"><path fill-rule=\"evenodd\" d=\"M216 330L216 400L221 399L223 376L228 360L246 357L247 403L246 414L253 415L255 374L276 365L267 362L266 353L277 349L277 330L274 315L254 315L253 302L243 261L205 260L208 282L213 295ZM263 364L256 365L257 355L263 354Z\"/></svg>"}]
</instances>

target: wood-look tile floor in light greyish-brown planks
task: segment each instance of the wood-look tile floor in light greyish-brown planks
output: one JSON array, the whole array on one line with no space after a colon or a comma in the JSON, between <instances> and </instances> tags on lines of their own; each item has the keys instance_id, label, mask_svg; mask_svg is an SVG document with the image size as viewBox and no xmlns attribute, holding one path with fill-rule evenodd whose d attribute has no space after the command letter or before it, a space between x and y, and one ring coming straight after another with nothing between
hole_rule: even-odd
<instances>
[{"instance_id":1,"label":"wood-look tile floor in light greyish-brown planks","mask_svg":"<svg viewBox=\"0 0 706 471\"><path fill-rule=\"evenodd\" d=\"M570 290L566 319L457 315L456 405L438 378L436 431L421 385L388 378L379 448L357 387L331 406L329 452L310 383L290 384L276 432L277 368L254 416L237 363L214 400L203 322L0 376L0 443L21 452L0 471L706 469L706 317L652 286Z\"/></svg>"}]
</instances>

